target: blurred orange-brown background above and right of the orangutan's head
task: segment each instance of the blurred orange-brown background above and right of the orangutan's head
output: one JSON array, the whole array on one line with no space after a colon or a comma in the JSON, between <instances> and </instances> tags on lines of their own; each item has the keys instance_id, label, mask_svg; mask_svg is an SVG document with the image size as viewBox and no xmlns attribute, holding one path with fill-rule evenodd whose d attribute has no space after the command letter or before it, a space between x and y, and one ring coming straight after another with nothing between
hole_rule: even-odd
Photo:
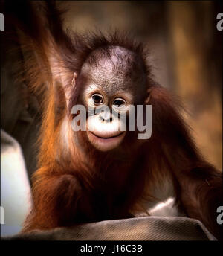
<instances>
[{"instance_id":1,"label":"blurred orange-brown background above and right of the orangutan's head","mask_svg":"<svg viewBox=\"0 0 223 256\"><path fill-rule=\"evenodd\" d=\"M204 156L222 169L222 32L214 1L65 1L65 28L131 32L149 45L156 80L181 97Z\"/></svg>"}]
</instances>

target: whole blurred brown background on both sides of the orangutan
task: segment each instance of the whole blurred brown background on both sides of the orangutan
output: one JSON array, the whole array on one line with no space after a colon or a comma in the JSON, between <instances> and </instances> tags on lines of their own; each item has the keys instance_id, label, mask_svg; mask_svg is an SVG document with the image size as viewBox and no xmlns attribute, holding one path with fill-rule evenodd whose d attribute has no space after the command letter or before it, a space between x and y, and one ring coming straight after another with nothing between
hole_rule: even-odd
<instances>
[{"instance_id":1,"label":"whole blurred brown background on both sides of the orangutan","mask_svg":"<svg viewBox=\"0 0 223 256\"><path fill-rule=\"evenodd\" d=\"M181 100L205 158L222 170L222 35L216 1L58 1L65 28L132 33L149 45L158 83ZM13 48L11 42L3 45ZM1 128L22 147L28 174L36 170L39 106L12 79L14 60L1 47ZM18 58L15 56L15 59ZM21 88L24 88L21 91Z\"/></svg>"}]
</instances>

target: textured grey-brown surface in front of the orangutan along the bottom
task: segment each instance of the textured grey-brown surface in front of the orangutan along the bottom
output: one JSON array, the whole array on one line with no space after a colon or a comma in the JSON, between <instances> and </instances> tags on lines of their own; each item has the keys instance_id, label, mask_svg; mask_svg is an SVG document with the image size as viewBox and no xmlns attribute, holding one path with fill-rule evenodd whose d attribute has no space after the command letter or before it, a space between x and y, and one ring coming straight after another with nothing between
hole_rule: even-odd
<instances>
[{"instance_id":1,"label":"textured grey-brown surface in front of the orangutan along the bottom","mask_svg":"<svg viewBox=\"0 0 223 256\"><path fill-rule=\"evenodd\" d=\"M4 240L216 240L198 220L136 217L106 220L51 231L32 231Z\"/></svg>"}]
</instances>

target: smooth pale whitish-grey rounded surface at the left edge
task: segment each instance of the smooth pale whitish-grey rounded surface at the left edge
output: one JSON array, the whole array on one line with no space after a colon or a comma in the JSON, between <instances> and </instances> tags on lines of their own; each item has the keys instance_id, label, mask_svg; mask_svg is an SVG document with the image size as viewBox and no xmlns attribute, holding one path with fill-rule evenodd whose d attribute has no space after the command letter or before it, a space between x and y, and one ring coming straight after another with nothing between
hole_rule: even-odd
<instances>
[{"instance_id":1,"label":"smooth pale whitish-grey rounded surface at the left edge","mask_svg":"<svg viewBox=\"0 0 223 256\"><path fill-rule=\"evenodd\" d=\"M30 183L22 149L1 129L1 237L17 234L31 207Z\"/></svg>"}]
</instances>

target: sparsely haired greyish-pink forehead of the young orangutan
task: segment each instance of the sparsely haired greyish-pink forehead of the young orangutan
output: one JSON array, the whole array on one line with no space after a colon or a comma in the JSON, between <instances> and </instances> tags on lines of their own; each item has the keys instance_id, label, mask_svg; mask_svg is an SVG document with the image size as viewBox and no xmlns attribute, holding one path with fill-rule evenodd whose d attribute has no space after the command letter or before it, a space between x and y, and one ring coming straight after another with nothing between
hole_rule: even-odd
<instances>
[{"instance_id":1,"label":"sparsely haired greyish-pink forehead of the young orangutan","mask_svg":"<svg viewBox=\"0 0 223 256\"><path fill-rule=\"evenodd\" d=\"M146 77L140 57L120 46L100 48L92 52L83 71L94 84L114 90L134 88L135 83L143 83Z\"/></svg>"}]
</instances>

